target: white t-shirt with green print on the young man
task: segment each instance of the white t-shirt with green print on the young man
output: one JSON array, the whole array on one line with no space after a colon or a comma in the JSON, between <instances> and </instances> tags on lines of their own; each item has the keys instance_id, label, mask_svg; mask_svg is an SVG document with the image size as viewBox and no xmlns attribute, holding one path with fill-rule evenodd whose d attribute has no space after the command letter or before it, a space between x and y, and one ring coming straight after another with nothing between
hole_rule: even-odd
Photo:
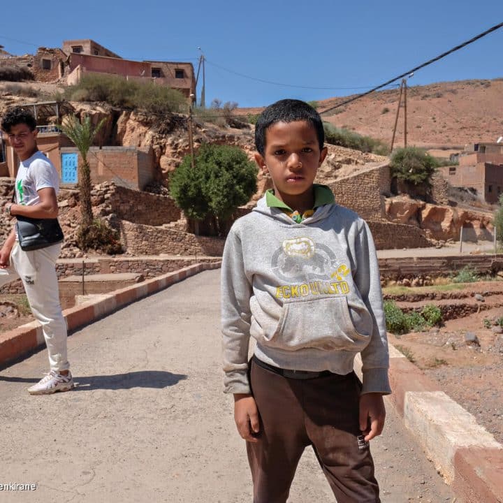
<instances>
[{"instance_id":1,"label":"white t-shirt with green print on the young man","mask_svg":"<svg viewBox=\"0 0 503 503\"><path fill-rule=\"evenodd\" d=\"M40 203L37 191L52 187L59 192L59 176L52 162L37 150L29 159L20 162L15 182L16 203L36 205Z\"/></svg>"}]
</instances>

